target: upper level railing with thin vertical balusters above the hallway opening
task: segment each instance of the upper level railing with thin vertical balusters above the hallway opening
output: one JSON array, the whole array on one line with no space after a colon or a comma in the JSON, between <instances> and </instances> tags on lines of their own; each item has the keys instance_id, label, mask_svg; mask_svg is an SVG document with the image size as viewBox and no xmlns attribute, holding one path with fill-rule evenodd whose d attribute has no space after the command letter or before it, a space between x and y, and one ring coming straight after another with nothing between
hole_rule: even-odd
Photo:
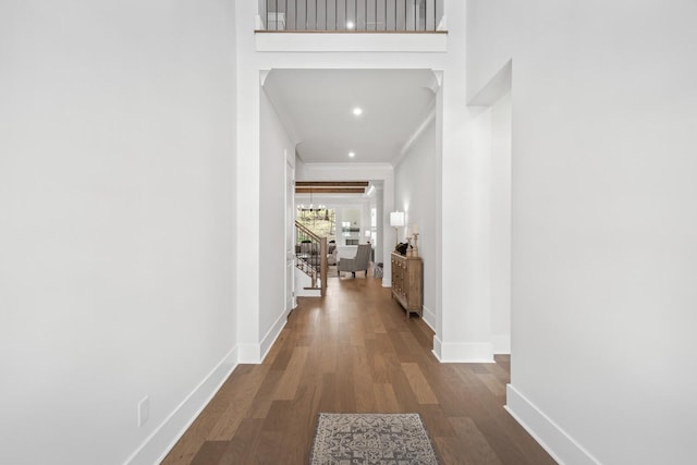
<instances>
[{"instance_id":1,"label":"upper level railing with thin vertical balusters above the hallway opening","mask_svg":"<svg viewBox=\"0 0 697 465\"><path fill-rule=\"evenodd\" d=\"M436 32L443 0L264 0L268 32Z\"/></svg>"}]
</instances>

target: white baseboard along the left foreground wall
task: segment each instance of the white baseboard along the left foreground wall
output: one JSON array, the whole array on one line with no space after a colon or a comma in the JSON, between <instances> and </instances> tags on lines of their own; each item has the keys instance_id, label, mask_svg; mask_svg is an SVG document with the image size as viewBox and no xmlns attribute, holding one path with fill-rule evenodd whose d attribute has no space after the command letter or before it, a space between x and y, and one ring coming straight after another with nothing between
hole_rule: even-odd
<instances>
[{"instance_id":1,"label":"white baseboard along the left foreground wall","mask_svg":"<svg viewBox=\"0 0 697 465\"><path fill-rule=\"evenodd\" d=\"M206 378L182 401L150 436L125 461L129 465L152 465L162 462L176 441L208 405L237 366L237 348L233 348Z\"/></svg>"}]
</instances>

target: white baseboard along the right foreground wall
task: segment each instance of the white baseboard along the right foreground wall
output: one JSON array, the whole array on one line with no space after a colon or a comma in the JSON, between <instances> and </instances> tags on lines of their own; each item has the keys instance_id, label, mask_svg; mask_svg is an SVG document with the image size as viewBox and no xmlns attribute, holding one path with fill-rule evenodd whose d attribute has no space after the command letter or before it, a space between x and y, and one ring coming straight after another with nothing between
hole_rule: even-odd
<instances>
[{"instance_id":1,"label":"white baseboard along the right foreground wall","mask_svg":"<svg viewBox=\"0 0 697 465\"><path fill-rule=\"evenodd\" d=\"M588 451L513 386L506 386L504 408L560 465L600 465Z\"/></svg>"}]
</instances>

